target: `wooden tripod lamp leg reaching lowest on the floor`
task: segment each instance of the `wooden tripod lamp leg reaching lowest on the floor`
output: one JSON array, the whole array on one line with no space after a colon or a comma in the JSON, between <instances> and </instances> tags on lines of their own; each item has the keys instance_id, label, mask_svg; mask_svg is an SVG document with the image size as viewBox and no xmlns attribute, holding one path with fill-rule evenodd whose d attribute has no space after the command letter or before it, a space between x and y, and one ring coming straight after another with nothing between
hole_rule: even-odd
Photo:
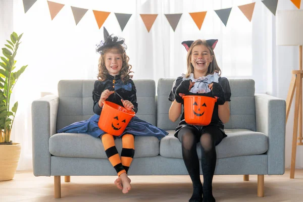
<instances>
[{"instance_id":1,"label":"wooden tripod lamp leg reaching lowest on the floor","mask_svg":"<svg viewBox=\"0 0 303 202\"><path fill-rule=\"evenodd\" d=\"M301 77L301 75L297 74L298 79L296 79L296 90L295 90L290 179L294 178L294 168L295 168L296 142L297 142L297 132L298 132L297 129L298 129L299 106L300 106L299 103L300 103L300 96L301 96L301 90L302 90L302 80L300 77Z\"/></svg>"}]
</instances>

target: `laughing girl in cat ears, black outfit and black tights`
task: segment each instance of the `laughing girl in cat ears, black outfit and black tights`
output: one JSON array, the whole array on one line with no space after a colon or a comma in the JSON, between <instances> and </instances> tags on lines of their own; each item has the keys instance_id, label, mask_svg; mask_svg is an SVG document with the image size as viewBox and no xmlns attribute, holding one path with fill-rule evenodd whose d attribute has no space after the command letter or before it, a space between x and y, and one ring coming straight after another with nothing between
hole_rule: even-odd
<instances>
[{"instance_id":1,"label":"laughing girl in cat ears, black outfit and black tights","mask_svg":"<svg viewBox=\"0 0 303 202\"><path fill-rule=\"evenodd\" d=\"M169 119L175 122L182 114L175 129L175 137L181 142L183 161L192 181L193 191L189 202L216 201L212 188L217 161L216 145L227 136L224 124L229 121L228 102L231 96L229 82L227 78L220 77L221 70L214 54L217 42L217 39L182 42L187 51L187 72L174 81L168 96L172 102ZM218 98L209 125L192 125L185 122L182 96L188 94ZM200 180L197 142L201 146L203 184Z\"/></svg>"}]
</instances>

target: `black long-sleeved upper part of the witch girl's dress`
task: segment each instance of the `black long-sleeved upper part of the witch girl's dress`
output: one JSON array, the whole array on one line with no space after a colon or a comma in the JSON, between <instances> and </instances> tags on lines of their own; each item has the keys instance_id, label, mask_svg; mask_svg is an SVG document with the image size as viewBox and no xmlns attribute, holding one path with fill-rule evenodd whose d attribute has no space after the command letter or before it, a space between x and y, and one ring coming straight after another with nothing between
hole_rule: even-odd
<instances>
[{"instance_id":1,"label":"black long-sleeved upper part of the witch girl's dress","mask_svg":"<svg viewBox=\"0 0 303 202\"><path fill-rule=\"evenodd\" d=\"M100 115L102 108L99 107L98 102L101 96L101 93L109 89L110 91L117 91L119 95L124 100L129 100L133 106L135 113L138 111L138 104L137 104L137 96L136 96L136 87L132 79L128 79L127 82L123 83L120 79L120 75L111 76L107 75L107 79L105 81L95 81L93 91L92 91L92 99L93 99L93 112L95 114ZM107 101L116 103L123 107L121 102L121 98L116 94L111 94L107 99Z\"/></svg>"}]
</instances>

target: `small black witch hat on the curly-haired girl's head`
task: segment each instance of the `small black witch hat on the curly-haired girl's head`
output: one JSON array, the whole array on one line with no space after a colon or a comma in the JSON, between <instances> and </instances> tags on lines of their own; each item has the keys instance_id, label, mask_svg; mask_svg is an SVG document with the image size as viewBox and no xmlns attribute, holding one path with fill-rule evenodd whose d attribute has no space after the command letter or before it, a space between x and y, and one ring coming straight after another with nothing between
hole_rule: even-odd
<instances>
[{"instance_id":1,"label":"small black witch hat on the curly-haired girl's head","mask_svg":"<svg viewBox=\"0 0 303 202\"><path fill-rule=\"evenodd\" d=\"M118 36L115 36L114 34L109 34L109 32L106 30L105 27L103 27L103 34L104 34L104 40L101 40L98 44L96 44L96 52L99 54L104 54L104 49L106 47L111 47L116 44L122 45L124 50L126 51L127 46L124 43L124 38L119 38Z\"/></svg>"}]
</instances>

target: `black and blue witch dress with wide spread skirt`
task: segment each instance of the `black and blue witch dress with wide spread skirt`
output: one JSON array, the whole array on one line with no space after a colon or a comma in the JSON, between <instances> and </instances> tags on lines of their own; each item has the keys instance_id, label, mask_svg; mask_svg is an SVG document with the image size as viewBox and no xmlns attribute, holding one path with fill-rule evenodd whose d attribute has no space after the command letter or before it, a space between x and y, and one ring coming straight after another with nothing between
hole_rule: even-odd
<instances>
[{"instance_id":1,"label":"black and blue witch dress with wide spread skirt","mask_svg":"<svg viewBox=\"0 0 303 202\"><path fill-rule=\"evenodd\" d=\"M129 100L133 106L135 113L138 111L137 97L136 97L136 87L132 79L128 79L127 82L124 82L120 79L120 75L111 76L108 75L105 81L95 81L94 89L92 91L93 98L93 112L95 113L88 120L75 122L69 126L66 126L60 130L58 133L83 133L89 134L93 137L100 137L103 134L106 134L105 131L101 130L98 127L99 117L102 111L102 108L99 107L98 102L101 96L101 93L109 89L110 91L117 91L119 95L122 96L124 100ZM118 104L123 107L121 98L116 94L111 94L107 101ZM132 134L135 136L156 136L159 139L166 136L168 132L158 128L146 121L139 119L138 117L133 117L127 127L125 128L122 135L117 136L121 137L124 134Z\"/></svg>"}]
</instances>

